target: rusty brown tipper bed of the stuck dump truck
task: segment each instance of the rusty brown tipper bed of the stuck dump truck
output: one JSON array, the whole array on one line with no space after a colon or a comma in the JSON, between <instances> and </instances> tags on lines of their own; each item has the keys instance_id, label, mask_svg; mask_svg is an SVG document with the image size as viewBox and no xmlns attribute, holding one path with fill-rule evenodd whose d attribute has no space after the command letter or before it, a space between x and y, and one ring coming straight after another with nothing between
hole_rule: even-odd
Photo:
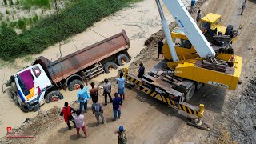
<instances>
[{"instance_id":1,"label":"rusty brown tipper bed of the stuck dump truck","mask_svg":"<svg viewBox=\"0 0 256 144\"><path fill-rule=\"evenodd\" d=\"M72 74L76 74L80 70L86 69L88 66L101 62L113 54L117 54L122 50L128 50L129 47L129 38L126 35L126 31L122 30L119 34L66 55L54 62L41 56L36 59L34 64L40 63L44 70L46 70L47 75L56 83Z\"/></svg>"}]
</instances>

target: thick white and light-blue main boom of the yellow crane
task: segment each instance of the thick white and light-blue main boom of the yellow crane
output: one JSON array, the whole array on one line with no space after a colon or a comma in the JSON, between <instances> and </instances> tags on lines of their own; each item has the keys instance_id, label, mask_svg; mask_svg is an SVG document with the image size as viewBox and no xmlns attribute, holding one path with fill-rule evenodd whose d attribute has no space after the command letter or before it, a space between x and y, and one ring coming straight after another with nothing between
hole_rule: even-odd
<instances>
[{"instance_id":1,"label":"thick white and light-blue main boom of the yellow crane","mask_svg":"<svg viewBox=\"0 0 256 144\"><path fill-rule=\"evenodd\" d=\"M159 2L159 0L157 1ZM167 10L170 11L170 14L172 14L175 21L178 23L178 26L182 28L182 31L186 34L186 37L190 40L198 55L201 58L206 58L207 56L215 56L214 49L210 46L210 43L202 34L202 31L198 28L197 24L194 22L194 19L186 10L186 6L184 5L184 3L182 3L180 0L162 1L166 5Z\"/></svg>"}]
</instances>

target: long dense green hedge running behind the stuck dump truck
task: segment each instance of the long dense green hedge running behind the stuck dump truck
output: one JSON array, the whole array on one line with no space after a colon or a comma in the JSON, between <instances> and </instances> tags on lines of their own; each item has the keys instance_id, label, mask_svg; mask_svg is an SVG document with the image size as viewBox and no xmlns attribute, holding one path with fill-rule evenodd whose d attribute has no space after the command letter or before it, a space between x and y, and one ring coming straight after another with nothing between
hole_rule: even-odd
<instances>
[{"instance_id":1,"label":"long dense green hedge running behind the stuck dump truck","mask_svg":"<svg viewBox=\"0 0 256 144\"><path fill-rule=\"evenodd\" d=\"M134 1L138 2L138 0L78 0L62 10L58 17L53 14L38 20L37 25L32 26L30 30L25 30L26 22L20 19L18 20L18 27L24 31L12 41L18 43L19 50L22 51L14 55L6 54L10 58L5 56L5 59L18 58L19 55L23 54L38 54L46 50L48 46L81 33L92 26L94 22L129 6L129 2ZM0 43L2 43L2 39L0 39ZM1 46L0 51L2 49L6 50ZM5 51L5 53L8 52ZM3 58L2 53L0 53L0 58Z\"/></svg>"}]
</instances>

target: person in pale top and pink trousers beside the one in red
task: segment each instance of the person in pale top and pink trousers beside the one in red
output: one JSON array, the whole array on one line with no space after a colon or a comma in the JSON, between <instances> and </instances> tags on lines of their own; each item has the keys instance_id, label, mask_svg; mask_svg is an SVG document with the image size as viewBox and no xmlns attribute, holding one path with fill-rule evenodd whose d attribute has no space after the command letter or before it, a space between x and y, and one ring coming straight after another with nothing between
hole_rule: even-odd
<instances>
[{"instance_id":1,"label":"person in pale top and pink trousers beside the one in red","mask_svg":"<svg viewBox=\"0 0 256 144\"><path fill-rule=\"evenodd\" d=\"M83 133L85 134L85 138L87 137L87 132L86 132L86 126L85 126L85 116L83 114L81 114L80 110L77 110L77 115L74 117L74 121L76 123L77 126L77 134L78 134L78 138L79 138L79 131L80 128L82 128Z\"/></svg>"}]
</instances>

